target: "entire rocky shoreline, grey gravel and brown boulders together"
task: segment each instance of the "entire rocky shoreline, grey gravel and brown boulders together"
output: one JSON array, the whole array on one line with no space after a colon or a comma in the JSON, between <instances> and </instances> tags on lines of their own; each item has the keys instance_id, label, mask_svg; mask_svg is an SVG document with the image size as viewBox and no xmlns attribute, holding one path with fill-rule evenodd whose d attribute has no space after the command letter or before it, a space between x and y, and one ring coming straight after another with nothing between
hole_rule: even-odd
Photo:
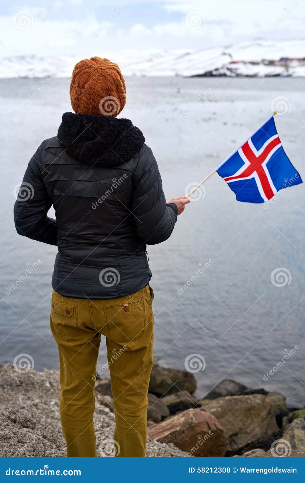
<instances>
[{"instance_id":1,"label":"entire rocky shoreline, grey gravel and brown boulders together","mask_svg":"<svg viewBox=\"0 0 305 483\"><path fill-rule=\"evenodd\" d=\"M97 455L114 456L108 379L96 380ZM305 408L277 392L223 380L203 399L194 374L154 364L149 386L148 457L305 456ZM0 368L0 456L65 456L59 374Z\"/></svg>"}]
</instances>

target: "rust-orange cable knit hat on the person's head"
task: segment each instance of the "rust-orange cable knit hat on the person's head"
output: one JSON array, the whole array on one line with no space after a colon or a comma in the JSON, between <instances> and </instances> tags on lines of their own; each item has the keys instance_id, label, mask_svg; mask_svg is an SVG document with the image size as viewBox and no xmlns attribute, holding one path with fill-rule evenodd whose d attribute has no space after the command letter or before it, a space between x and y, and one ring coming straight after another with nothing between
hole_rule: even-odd
<instances>
[{"instance_id":1,"label":"rust-orange cable knit hat on the person's head","mask_svg":"<svg viewBox=\"0 0 305 483\"><path fill-rule=\"evenodd\" d=\"M122 72L108 59L83 59L73 69L70 98L76 114L116 117L126 102Z\"/></svg>"}]
</instances>

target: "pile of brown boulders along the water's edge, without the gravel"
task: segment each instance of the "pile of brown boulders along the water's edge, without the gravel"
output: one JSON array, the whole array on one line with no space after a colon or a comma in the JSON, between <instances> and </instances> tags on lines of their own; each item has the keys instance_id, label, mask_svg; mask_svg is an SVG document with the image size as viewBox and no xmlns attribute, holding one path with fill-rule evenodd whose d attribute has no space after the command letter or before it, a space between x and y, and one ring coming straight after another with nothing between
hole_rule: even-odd
<instances>
[{"instance_id":1,"label":"pile of brown boulders along the water's edge, without the gravel","mask_svg":"<svg viewBox=\"0 0 305 483\"><path fill-rule=\"evenodd\" d=\"M278 392L230 379L200 400L195 389L193 373L153 365L147 412L152 440L196 457L305 456L305 408L289 408ZM110 381L97 379L96 390L111 407Z\"/></svg>"}]
</instances>

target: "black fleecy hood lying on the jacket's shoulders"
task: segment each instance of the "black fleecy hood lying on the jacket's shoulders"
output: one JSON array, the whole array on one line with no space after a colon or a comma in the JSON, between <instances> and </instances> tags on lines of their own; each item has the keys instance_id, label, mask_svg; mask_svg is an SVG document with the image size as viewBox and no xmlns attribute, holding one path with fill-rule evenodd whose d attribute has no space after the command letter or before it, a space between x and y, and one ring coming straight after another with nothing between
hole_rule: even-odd
<instances>
[{"instance_id":1,"label":"black fleecy hood lying on the jacket's shoulders","mask_svg":"<svg viewBox=\"0 0 305 483\"><path fill-rule=\"evenodd\" d=\"M63 114L57 139L73 159L108 167L131 159L145 142L129 119L73 113Z\"/></svg>"}]
</instances>

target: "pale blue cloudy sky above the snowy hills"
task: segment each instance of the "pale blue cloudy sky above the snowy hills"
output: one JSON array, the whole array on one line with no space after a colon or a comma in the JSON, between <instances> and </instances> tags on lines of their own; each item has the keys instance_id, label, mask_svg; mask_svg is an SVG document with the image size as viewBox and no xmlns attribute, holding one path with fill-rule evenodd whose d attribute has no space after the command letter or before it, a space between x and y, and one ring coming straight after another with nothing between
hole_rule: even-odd
<instances>
[{"instance_id":1,"label":"pale blue cloudy sky above the snowy hills","mask_svg":"<svg viewBox=\"0 0 305 483\"><path fill-rule=\"evenodd\" d=\"M304 21L304 0L13 0L2 2L1 57L104 57L300 39Z\"/></svg>"}]
</instances>

